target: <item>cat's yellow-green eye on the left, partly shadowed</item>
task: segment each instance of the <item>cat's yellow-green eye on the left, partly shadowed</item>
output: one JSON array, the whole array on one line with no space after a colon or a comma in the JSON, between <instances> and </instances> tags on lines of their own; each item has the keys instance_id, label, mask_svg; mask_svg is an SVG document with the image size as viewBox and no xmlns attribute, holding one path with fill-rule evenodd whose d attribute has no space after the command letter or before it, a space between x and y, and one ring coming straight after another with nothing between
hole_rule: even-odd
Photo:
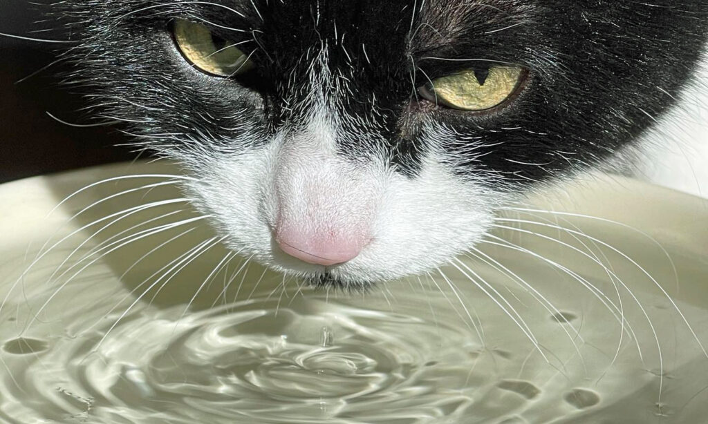
<instances>
[{"instance_id":1,"label":"cat's yellow-green eye on the left, partly shadowed","mask_svg":"<svg viewBox=\"0 0 708 424\"><path fill-rule=\"evenodd\" d=\"M237 43L218 37L205 25L176 19L172 30L182 55L200 71L232 77L253 69L253 62Z\"/></svg>"}]
</instances>

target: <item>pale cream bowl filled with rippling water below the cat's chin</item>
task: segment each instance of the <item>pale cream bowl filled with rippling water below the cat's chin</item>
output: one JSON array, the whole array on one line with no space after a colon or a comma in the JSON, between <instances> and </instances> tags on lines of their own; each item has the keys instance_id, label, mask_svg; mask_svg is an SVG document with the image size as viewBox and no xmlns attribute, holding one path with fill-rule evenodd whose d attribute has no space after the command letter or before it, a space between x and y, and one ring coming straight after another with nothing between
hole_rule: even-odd
<instances>
[{"instance_id":1,"label":"pale cream bowl filled with rippling water below the cat's chin","mask_svg":"<svg viewBox=\"0 0 708 424\"><path fill-rule=\"evenodd\" d=\"M701 423L708 413L708 229L696 224L708 209L694 199L648 209L668 194L578 189L564 204L629 216L646 233L515 211L500 223L521 231L496 232L506 242L444 276L350 295L225 261L198 220L107 253L195 217L173 213L184 205L126 216L89 242L108 221L71 235L178 196L127 193L67 224L159 179L101 184L45 218L57 199L122 172L0 187L16 205L0 219L1 422Z\"/></svg>"}]
</instances>

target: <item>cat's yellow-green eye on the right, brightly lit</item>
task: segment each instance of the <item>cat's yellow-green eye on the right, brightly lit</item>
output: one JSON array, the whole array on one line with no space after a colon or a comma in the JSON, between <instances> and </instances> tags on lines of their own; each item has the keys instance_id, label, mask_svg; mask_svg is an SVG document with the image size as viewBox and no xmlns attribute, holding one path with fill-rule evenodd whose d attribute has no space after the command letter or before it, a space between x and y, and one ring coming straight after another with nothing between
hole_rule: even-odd
<instances>
[{"instance_id":1,"label":"cat's yellow-green eye on the right, brightly lit","mask_svg":"<svg viewBox=\"0 0 708 424\"><path fill-rule=\"evenodd\" d=\"M438 78L418 89L418 93L438 105L479 112L501 105L525 78L518 66L491 66L489 70L469 70Z\"/></svg>"}]
</instances>

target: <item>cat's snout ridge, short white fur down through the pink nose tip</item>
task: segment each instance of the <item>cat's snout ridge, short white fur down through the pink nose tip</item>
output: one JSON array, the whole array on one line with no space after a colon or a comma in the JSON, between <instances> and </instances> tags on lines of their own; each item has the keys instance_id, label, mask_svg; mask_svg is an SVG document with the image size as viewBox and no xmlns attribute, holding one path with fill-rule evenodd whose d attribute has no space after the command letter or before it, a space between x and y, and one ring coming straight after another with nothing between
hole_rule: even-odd
<instances>
[{"instance_id":1,"label":"cat's snout ridge, short white fur down through the pink nose tip","mask_svg":"<svg viewBox=\"0 0 708 424\"><path fill-rule=\"evenodd\" d=\"M276 167L275 241L310 264L350 261L372 240L379 184L346 161L306 152L289 151Z\"/></svg>"}]
</instances>

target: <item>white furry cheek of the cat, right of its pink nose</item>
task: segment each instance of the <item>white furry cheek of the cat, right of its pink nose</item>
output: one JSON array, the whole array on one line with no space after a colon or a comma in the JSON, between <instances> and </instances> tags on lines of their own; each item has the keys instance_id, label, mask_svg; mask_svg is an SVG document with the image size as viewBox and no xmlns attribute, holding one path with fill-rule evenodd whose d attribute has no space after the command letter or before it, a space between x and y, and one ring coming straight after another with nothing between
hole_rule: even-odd
<instances>
[{"instance_id":1,"label":"white furry cheek of the cat, right of its pink nose","mask_svg":"<svg viewBox=\"0 0 708 424\"><path fill-rule=\"evenodd\" d=\"M437 163L425 165L416 179L394 175L376 217L374 241L333 275L387 281L444 266L491 228L492 199Z\"/></svg>"}]
</instances>

